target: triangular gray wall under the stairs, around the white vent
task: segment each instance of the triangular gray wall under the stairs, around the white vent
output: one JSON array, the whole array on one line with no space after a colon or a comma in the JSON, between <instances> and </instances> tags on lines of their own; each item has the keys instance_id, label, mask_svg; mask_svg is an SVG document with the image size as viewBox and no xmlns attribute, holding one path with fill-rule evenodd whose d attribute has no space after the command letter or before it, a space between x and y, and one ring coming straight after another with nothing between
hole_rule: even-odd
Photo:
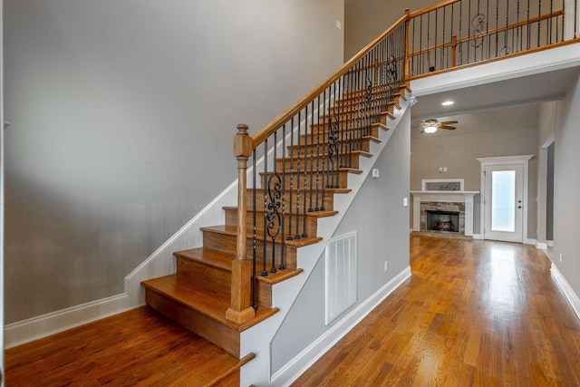
<instances>
[{"instance_id":1,"label":"triangular gray wall under the stairs, around the white vent","mask_svg":"<svg viewBox=\"0 0 580 387\"><path fill-rule=\"evenodd\" d=\"M334 232L334 236L357 232L356 305L409 266L409 208L402 207L402 199L409 195L409 126L408 111L374 165L380 169L381 178L367 177ZM385 260L389 261L387 273L383 271ZM275 335L272 372L279 371L340 319L339 316L333 323L324 325L323 255Z\"/></svg>"}]
</instances>

